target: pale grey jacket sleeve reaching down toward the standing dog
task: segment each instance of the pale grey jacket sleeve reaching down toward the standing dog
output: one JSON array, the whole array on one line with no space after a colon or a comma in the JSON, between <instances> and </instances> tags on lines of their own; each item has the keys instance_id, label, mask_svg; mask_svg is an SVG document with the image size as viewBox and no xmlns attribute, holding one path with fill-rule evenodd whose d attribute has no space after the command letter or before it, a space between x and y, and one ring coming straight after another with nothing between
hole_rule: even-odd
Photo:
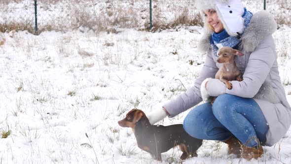
<instances>
[{"instance_id":1,"label":"pale grey jacket sleeve reaching down toward the standing dog","mask_svg":"<svg viewBox=\"0 0 291 164\"><path fill-rule=\"evenodd\" d=\"M214 78L218 71L211 53L211 50L207 52L204 66L202 67L199 76L196 78L194 86L190 87L186 90L186 92L183 92L175 99L163 105L169 114L168 117L174 117L202 101L200 93L201 82L203 82L206 78Z\"/></svg>"}]
</instances>

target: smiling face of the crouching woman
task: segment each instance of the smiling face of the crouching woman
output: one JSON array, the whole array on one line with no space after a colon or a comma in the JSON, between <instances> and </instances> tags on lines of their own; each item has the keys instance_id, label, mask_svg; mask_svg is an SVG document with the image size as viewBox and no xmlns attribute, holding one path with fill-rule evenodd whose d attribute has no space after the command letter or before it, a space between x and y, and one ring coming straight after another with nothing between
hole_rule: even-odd
<instances>
[{"instance_id":1,"label":"smiling face of the crouching woman","mask_svg":"<svg viewBox=\"0 0 291 164\"><path fill-rule=\"evenodd\" d=\"M218 19L218 15L216 10L214 9L209 9L209 10L204 10L205 13L206 21L209 23L210 26L214 28L214 31L216 33L220 33L223 31L223 25Z\"/></svg>"}]
</instances>

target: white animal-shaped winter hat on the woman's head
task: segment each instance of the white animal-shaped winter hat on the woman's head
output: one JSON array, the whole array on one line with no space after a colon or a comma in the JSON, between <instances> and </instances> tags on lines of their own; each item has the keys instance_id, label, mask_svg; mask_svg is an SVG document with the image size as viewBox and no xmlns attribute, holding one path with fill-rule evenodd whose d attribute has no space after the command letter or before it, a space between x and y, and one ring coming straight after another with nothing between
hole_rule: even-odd
<instances>
[{"instance_id":1,"label":"white animal-shaped winter hat on the woman's head","mask_svg":"<svg viewBox=\"0 0 291 164\"><path fill-rule=\"evenodd\" d=\"M204 21L204 27L208 27L204 10L215 9L224 29L230 36L237 36L244 30L244 6L241 0L196 0ZM207 29L207 28L206 28Z\"/></svg>"}]
</instances>

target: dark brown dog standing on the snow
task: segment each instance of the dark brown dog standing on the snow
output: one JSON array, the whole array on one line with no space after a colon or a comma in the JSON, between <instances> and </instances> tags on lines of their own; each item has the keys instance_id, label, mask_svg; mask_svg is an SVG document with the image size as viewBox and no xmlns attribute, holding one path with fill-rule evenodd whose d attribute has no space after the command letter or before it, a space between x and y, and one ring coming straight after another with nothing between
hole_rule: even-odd
<instances>
[{"instance_id":1,"label":"dark brown dog standing on the snow","mask_svg":"<svg viewBox=\"0 0 291 164\"><path fill-rule=\"evenodd\" d=\"M131 127L138 147L158 161L162 161L161 153L178 145L182 151L181 160L189 156L197 157L196 151L202 145L202 139L191 137L182 124L151 125L146 114L139 109L129 111L118 124L122 127Z\"/></svg>"}]
</instances>

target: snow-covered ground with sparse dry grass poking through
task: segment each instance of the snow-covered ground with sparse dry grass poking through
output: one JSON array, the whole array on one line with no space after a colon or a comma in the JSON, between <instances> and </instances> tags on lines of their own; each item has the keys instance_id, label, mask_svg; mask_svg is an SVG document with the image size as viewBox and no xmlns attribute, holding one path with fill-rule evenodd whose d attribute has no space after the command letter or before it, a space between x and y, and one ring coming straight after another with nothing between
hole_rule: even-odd
<instances>
[{"instance_id":1,"label":"snow-covered ground with sparse dry grass poking through","mask_svg":"<svg viewBox=\"0 0 291 164\"><path fill-rule=\"evenodd\" d=\"M118 121L132 108L146 114L193 85L204 64L201 27L160 33L87 28L68 32L0 33L0 164L156 164ZM281 81L291 103L291 28L273 35ZM158 124L182 123L186 111ZM195 128L195 125L193 126ZM87 134L87 136L86 136ZM204 141L184 164L291 164L291 130L258 160L227 155ZM163 164L181 163L177 148Z\"/></svg>"}]
</instances>

